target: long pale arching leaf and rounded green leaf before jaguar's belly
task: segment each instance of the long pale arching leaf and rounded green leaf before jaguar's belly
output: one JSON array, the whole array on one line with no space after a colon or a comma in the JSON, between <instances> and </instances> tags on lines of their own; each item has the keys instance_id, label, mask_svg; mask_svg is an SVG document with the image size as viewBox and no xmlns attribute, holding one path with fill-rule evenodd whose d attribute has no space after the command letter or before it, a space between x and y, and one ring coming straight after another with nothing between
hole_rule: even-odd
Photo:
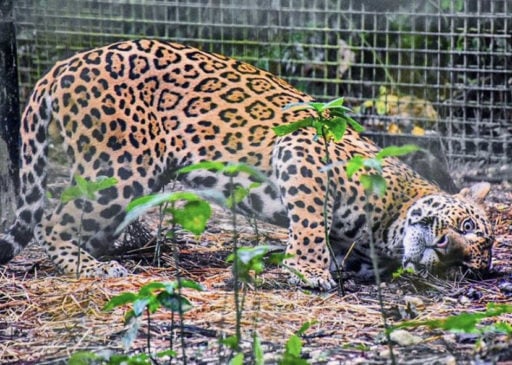
<instances>
[{"instance_id":1,"label":"long pale arching leaf and rounded green leaf before jaguar's belly","mask_svg":"<svg viewBox=\"0 0 512 365\"><path fill-rule=\"evenodd\" d=\"M183 206L176 207L175 204L178 202L184 202ZM195 193L176 191L145 195L132 200L126 208L127 214L117 228L116 234L150 209L165 203L170 204L166 212L172 214L174 223L195 235L204 232L212 214L210 204Z\"/></svg>"}]
</instances>

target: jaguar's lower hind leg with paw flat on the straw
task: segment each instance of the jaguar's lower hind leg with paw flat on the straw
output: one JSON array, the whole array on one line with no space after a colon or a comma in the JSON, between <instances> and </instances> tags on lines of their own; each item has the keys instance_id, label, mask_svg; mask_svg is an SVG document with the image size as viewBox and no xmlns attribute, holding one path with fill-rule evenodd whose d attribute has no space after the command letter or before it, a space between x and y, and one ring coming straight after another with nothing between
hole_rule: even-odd
<instances>
[{"instance_id":1,"label":"jaguar's lower hind leg with paw flat on the straw","mask_svg":"<svg viewBox=\"0 0 512 365\"><path fill-rule=\"evenodd\" d=\"M36 227L36 239L64 273L84 277L120 277L128 273L116 261L100 262L94 257L112 249L115 229L125 215L127 202L116 197L118 188L100 192L96 201L61 203Z\"/></svg>"}]
</instances>

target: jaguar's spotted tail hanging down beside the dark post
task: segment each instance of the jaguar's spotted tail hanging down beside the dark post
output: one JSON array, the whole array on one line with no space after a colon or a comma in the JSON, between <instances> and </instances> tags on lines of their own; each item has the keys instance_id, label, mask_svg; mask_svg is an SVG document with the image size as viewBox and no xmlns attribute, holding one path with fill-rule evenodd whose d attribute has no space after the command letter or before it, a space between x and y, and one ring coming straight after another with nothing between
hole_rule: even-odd
<instances>
[{"instance_id":1,"label":"jaguar's spotted tail hanging down beside the dark post","mask_svg":"<svg viewBox=\"0 0 512 365\"><path fill-rule=\"evenodd\" d=\"M23 112L16 220L0 234L0 264L11 260L30 242L34 227L43 216L48 173L47 132L52 115L47 87L43 78Z\"/></svg>"}]
</instances>

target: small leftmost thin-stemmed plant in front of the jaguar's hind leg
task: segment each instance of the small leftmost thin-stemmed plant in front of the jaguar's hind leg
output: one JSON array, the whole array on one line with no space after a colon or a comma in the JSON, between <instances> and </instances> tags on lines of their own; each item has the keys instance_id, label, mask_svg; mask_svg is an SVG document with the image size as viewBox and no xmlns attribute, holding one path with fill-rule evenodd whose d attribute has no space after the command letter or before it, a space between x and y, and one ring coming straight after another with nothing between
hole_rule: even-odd
<instances>
[{"instance_id":1,"label":"small leftmost thin-stemmed plant in front of the jaguar's hind leg","mask_svg":"<svg viewBox=\"0 0 512 365\"><path fill-rule=\"evenodd\" d=\"M78 226L78 256L76 261L76 278L80 278L80 267L81 267L81 251L82 251L82 225L84 221L84 207L87 200L96 200L96 193L105 189L108 189L117 184L116 178L113 177L98 177L96 181L90 181L79 175L76 175L75 184L65 189L60 197L60 201L65 204L72 200L79 200L80 206L82 207L80 213L80 220Z\"/></svg>"}]
</instances>

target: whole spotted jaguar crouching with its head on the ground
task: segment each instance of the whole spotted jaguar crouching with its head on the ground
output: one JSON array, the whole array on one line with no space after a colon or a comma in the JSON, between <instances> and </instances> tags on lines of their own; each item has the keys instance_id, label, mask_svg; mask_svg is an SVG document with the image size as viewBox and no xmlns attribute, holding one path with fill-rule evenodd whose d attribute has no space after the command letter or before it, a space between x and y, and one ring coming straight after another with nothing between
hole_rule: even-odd
<instances>
[{"instance_id":1,"label":"whole spotted jaguar crouching with its head on the ground","mask_svg":"<svg viewBox=\"0 0 512 365\"><path fill-rule=\"evenodd\" d=\"M336 285L325 232L336 252L355 247L361 264L370 262L373 240L381 262L417 272L489 270L493 231L483 208L488 183L450 195L386 158L384 195L367 195L361 172L349 178L343 162L374 157L379 148L370 140L350 128L340 142L317 138L310 128L274 133L274 126L313 116L285 108L311 101L252 65L167 41L123 41L56 63L36 84L22 116L19 199L15 222L0 235L0 263L35 238L64 273L124 276L128 272L117 261L97 258L112 248L127 204L172 179L226 196L251 184L243 172L177 173L220 161L266 175L237 209L288 228L286 264L302 274L293 283L326 290ZM94 201L45 209L51 143L68 156L70 185L77 175L114 177L117 184ZM324 158L325 147L331 161Z\"/></svg>"}]
</instances>

